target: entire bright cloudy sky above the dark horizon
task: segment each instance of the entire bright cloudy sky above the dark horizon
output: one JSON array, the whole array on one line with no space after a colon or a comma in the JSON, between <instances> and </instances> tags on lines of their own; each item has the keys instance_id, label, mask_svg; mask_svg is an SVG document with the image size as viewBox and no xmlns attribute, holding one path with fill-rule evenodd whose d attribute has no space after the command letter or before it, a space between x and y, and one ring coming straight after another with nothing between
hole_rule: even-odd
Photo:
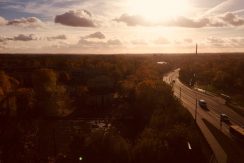
<instances>
[{"instance_id":1,"label":"entire bright cloudy sky above the dark horizon","mask_svg":"<svg viewBox=\"0 0 244 163\"><path fill-rule=\"evenodd\" d=\"M0 53L244 52L243 0L0 0Z\"/></svg>"}]
</instances>

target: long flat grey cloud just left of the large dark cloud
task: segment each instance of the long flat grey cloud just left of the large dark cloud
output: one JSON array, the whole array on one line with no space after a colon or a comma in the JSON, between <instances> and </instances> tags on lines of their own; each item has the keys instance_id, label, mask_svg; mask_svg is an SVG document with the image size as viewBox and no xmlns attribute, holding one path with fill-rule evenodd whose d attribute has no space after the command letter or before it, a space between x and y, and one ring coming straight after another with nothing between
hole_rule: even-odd
<instances>
[{"instance_id":1,"label":"long flat grey cloud just left of the large dark cloud","mask_svg":"<svg viewBox=\"0 0 244 163\"><path fill-rule=\"evenodd\" d=\"M7 22L7 25L23 26L23 27L41 27L43 23L36 17L28 17L21 19L13 19Z\"/></svg>"}]
</instances>

